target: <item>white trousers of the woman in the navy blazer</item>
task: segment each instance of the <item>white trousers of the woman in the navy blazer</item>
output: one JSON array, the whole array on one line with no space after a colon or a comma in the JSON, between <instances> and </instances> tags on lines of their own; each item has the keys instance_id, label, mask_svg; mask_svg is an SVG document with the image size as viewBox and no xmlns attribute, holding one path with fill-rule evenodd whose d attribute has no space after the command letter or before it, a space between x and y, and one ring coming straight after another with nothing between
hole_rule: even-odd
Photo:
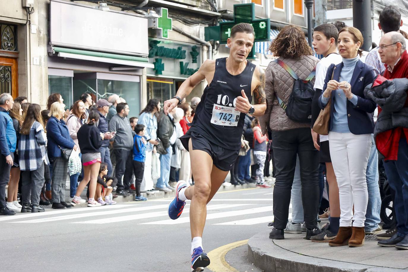
<instances>
[{"instance_id":1,"label":"white trousers of the woman in the navy blazer","mask_svg":"<svg viewBox=\"0 0 408 272\"><path fill-rule=\"evenodd\" d=\"M339 186L340 227L364 227L368 203L366 169L371 134L329 132L330 157ZM354 204L354 215L353 215Z\"/></svg>"}]
</instances>

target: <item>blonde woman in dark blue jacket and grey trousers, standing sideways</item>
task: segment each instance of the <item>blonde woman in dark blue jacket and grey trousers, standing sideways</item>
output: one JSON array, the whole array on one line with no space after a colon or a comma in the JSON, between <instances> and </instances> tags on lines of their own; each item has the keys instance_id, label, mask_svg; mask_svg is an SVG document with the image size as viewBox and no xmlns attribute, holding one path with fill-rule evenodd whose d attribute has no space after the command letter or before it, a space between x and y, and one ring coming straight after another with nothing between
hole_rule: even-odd
<instances>
[{"instance_id":1,"label":"blonde woman in dark blue jacket and grey trousers, standing sideways","mask_svg":"<svg viewBox=\"0 0 408 272\"><path fill-rule=\"evenodd\" d=\"M47 151L52 162L52 208L66 209L72 205L65 202L65 182L68 173L68 160L61 156L61 149L75 149L77 146L69 136L64 118L65 105L60 102L51 104L51 116L47 122Z\"/></svg>"}]
</instances>

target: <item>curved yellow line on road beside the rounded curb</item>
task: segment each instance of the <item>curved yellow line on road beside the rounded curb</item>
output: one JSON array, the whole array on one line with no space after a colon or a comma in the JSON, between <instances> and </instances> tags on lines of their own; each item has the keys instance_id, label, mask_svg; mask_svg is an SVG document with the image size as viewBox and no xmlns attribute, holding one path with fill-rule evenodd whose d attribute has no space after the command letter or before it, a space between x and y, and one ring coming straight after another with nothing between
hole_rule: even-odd
<instances>
[{"instance_id":1,"label":"curved yellow line on road beside the rounded curb","mask_svg":"<svg viewBox=\"0 0 408 272\"><path fill-rule=\"evenodd\" d=\"M248 240L249 239L230 243L228 245L223 245L219 248L216 248L215 250L211 250L210 252L208 252L208 257L210 258L211 263L207 266L207 268L212 272L238 272L238 270L227 263L227 261L225 260L225 255L228 251L241 245L245 245L246 243L248 243Z\"/></svg>"}]
</instances>

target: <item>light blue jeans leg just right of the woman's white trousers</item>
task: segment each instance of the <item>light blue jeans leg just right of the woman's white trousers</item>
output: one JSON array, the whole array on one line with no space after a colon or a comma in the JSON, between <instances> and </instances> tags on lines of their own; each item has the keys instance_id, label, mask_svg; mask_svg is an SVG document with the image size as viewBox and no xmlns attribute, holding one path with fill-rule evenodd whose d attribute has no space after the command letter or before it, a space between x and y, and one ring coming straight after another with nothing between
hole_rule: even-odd
<instances>
[{"instance_id":1,"label":"light blue jeans leg just right of the woman's white trousers","mask_svg":"<svg viewBox=\"0 0 408 272\"><path fill-rule=\"evenodd\" d=\"M381 222L381 196L380 188L378 185L378 153L377 148L375 147L373 134L371 134L371 150L370 157L368 158L366 179L368 189L368 205L366 212L366 221L364 222L364 230L373 231L378 228L378 224Z\"/></svg>"}]
</instances>

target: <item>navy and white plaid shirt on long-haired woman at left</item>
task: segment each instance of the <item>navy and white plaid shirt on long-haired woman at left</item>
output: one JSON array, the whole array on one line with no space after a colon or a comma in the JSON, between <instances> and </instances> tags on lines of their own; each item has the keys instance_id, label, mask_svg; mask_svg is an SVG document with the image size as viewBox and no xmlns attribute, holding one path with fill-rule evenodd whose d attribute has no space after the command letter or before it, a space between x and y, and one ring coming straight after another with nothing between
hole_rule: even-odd
<instances>
[{"instance_id":1,"label":"navy and white plaid shirt on long-haired woman at left","mask_svg":"<svg viewBox=\"0 0 408 272\"><path fill-rule=\"evenodd\" d=\"M18 158L20 170L33 171L40 167L43 161L49 164L47 155L47 136L40 123L34 121L28 135L20 135L18 142Z\"/></svg>"}]
</instances>

